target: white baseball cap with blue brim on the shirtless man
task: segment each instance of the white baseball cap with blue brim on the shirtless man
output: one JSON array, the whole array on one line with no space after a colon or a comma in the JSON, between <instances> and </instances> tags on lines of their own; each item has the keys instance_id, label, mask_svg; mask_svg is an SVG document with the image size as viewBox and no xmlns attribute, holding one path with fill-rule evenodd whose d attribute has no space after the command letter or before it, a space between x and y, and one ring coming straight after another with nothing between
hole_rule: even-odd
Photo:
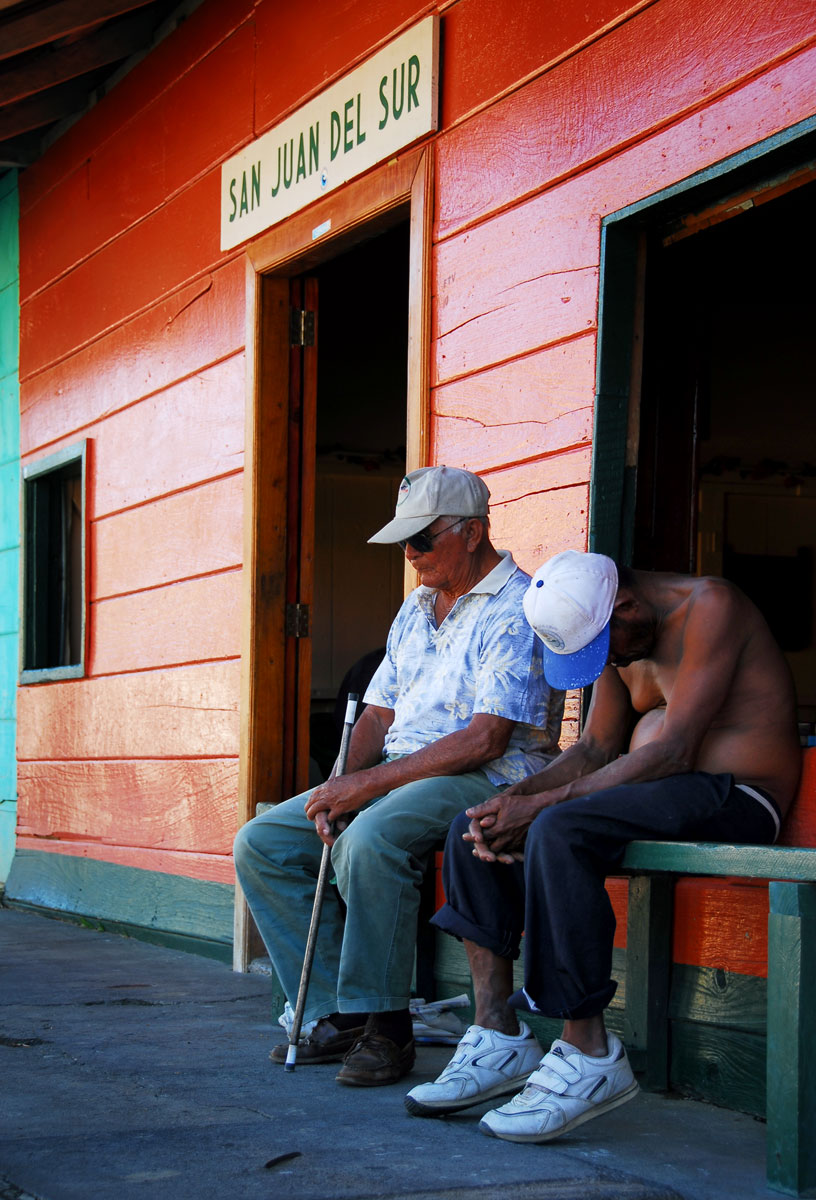
<instances>
[{"instance_id":1,"label":"white baseball cap with blue brim on the shirtless man","mask_svg":"<svg viewBox=\"0 0 816 1200\"><path fill-rule=\"evenodd\" d=\"M551 688L586 688L610 655L618 569L606 554L565 550L550 558L524 593L524 616L544 643Z\"/></svg>"}]
</instances>

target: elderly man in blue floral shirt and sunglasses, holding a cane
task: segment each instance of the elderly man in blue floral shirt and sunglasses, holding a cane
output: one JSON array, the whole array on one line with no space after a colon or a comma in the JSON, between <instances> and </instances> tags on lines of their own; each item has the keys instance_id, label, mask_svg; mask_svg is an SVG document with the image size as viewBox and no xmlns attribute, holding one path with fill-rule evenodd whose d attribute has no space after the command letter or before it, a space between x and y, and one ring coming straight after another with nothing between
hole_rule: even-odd
<instances>
[{"instance_id":1,"label":"elderly man in blue floral shirt and sunglasses, holding a cane","mask_svg":"<svg viewBox=\"0 0 816 1200\"><path fill-rule=\"evenodd\" d=\"M256 817L235 841L238 877L292 1004L322 844L332 847L340 895L323 910L304 1013L317 1026L298 1062L343 1060L342 1084L390 1084L414 1063L408 1004L433 845L463 808L558 750L564 696L548 688L522 613L529 576L491 545L488 498L476 475L450 467L402 480L395 518L370 541L398 542L420 587L391 626L347 773ZM286 1048L271 1057L284 1062Z\"/></svg>"}]
</instances>

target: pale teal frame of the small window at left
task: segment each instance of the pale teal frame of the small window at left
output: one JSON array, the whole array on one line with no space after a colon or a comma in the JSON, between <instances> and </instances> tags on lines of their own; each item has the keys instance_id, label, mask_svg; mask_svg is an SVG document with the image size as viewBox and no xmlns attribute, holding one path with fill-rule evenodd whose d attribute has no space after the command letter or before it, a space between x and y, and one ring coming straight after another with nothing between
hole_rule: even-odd
<instances>
[{"instance_id":1,"label":"pale teal frame of the small window at left","mask_svg":"<svg viewBox=\"0 0 816 1200\"><path fill-rule=\"evenodd\" d=\"M85 662L88 650L88 456L90 439L83 438L72 445L64 446L54 454L38 458L23 466L20 476L20 515L22 515L22 564L20 564L20 643L19 643L19 683L20 685L36 683L55 683L62 679L80 679L85 676ZM31 485L41 480L44 475L53 475L64 470L72 463L79 463L79 485L82 497L82 526L80 526L80 611L79 611L79 659L77 662L65 666L53 667L26 667L30 640L35 636L34 606L35 600L31 594L31 570L37 539L37 529L34 526L32 512L32 488Z\"/></svg>"}]
</instances>

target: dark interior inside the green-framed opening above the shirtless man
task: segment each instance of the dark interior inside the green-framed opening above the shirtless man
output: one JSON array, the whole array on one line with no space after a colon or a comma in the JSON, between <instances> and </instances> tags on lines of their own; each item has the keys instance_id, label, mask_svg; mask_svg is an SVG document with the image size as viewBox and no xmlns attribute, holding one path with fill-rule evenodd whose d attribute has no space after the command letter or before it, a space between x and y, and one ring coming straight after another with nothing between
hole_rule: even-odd
<instances>
[{"instance_id":1,"label":"dark interior inside the green-framed opening above the shirtless man","mask_svg":"<svg viewBox=\"0 0 816 1200\"><path fill-rule=\"evenodd\" d=\"M812 179L812 173L811 173ZM650 230L632 563L722 575L816 720L816 182ZM721 211L721 210L720 210Z\"/></svg>"}]
</instances>

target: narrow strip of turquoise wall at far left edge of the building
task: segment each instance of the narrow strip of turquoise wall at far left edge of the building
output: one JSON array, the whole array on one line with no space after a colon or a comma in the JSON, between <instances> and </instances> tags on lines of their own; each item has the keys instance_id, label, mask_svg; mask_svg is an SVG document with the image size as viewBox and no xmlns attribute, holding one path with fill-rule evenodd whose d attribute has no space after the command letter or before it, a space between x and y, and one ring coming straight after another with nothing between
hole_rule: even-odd
<instances>
[{"instance_id":1,"label":"narrow strip of turquoise wall at far left edge of the building","mask_svg":"<svg viewBox=\"0 0 816 1200\"><path fill-rule=\"evenodd\" d=\"M19 242L17 172L0 175L0 883L17 827L19 636Z\"/></svg>"}]
</instances>

